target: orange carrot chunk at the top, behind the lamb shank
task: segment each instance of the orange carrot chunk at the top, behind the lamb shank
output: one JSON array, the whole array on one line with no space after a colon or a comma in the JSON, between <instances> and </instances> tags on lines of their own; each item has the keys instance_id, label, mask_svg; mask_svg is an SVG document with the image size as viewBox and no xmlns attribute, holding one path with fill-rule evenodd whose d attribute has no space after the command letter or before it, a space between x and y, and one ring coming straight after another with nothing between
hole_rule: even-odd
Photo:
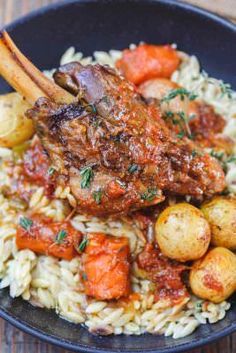
<instances>
[{"instance_id":1,"label":"orange carrot chunk at the top, behind the lamb shank","mask_svg":"<svg viewBox=\"0 0 236 353\"><path fill-rule=\"evenodd\" d=\"M177 69L180 59L170 45L140 44L135 49L123 51L116 67L136 85L155 78L169 78Z\"/></svg>"}]
</instances>

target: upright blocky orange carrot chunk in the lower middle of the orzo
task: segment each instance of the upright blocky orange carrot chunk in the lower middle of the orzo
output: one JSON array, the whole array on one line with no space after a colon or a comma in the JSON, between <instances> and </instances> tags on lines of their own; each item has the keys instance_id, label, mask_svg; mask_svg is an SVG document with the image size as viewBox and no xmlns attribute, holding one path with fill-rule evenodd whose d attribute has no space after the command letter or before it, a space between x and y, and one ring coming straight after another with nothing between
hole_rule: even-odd
<instances>
[{"instance_id":1,"label":"upright blocky orange carrot chunk in the lower middle of the orzo","mask_svg":"<svg viewBox=\"0 0 236 353\"><path fill-rule=\"evenodd\" d=\"M88 236L83 257L86 294L100 300L129 295L129 243L103 233Z\"/></svg>"}]
</instances>

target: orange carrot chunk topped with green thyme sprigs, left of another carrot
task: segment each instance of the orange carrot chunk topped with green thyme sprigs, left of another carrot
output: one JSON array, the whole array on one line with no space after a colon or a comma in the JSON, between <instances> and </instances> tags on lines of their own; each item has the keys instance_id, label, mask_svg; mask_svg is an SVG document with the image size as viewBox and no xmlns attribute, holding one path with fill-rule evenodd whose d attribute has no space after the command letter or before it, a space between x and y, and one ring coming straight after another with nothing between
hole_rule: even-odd
<instances>
[{"instance_id":1,"label":"orange carrot chunk topped with green thyme sprigs, left of another carrot","mask_svg":"<svg viewBox=\"0 0 236 353\"><path fill-rule=\"evenodd\" d=\"M16 245L18 249L30 249L39 254L71 260L77 254L75 246L81 238L81 233L69 222L52 222L37 215L20 219Z\"/></svg>"}]
</instances>

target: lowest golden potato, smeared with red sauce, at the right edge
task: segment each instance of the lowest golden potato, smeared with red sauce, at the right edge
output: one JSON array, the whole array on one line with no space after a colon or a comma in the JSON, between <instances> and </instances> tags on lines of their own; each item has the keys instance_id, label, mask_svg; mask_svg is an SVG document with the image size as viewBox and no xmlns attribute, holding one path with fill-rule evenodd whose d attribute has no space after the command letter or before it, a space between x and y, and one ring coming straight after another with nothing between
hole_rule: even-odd
<instances>
[{"instance_id":1,"label":"lowest golden potato, smeared with red sauce, at the right edge","mask_svg":"<svg viewBox=\"0 0 236 353\"><path fill-rule=\"evenodd\" d=\"M190 272L190 286L202 299L220 303L236 290L236 256L226 248L210 250L195 262Z\"/></svg>"}]
</instances>

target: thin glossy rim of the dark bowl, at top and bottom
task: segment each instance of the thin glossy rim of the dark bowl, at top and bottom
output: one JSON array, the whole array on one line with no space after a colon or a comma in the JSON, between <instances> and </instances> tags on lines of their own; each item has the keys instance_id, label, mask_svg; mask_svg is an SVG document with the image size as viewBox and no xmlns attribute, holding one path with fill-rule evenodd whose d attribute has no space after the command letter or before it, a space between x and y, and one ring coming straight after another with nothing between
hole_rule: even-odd
<instances>
[{"instance_id":1,"label":"thin glossy rim of the dark bowl, at top and bottom","mask_svg":"<svg viewBox=\"0 0 236 353\"><path fill-rule=\"evenodd\" d=\"M20 26L21 24L32 20L35 17L38 16L43 16L44 13L52 10L57 10L58 8L63 8L64 6L68 6L70 4L75 4L75 3L96 3L96 2L103 2L106 4L109 3L124 3L124 2L130 2L130 3L135 3L135 2L144 2L144 0L61 0L57 3L52 3L46 6L42 6L39 9L33 10L29 12L28 14L21 16L20 18L12 21L11 23L4 25L3 28L6 29L7 31L11 32L13 29L16 27ZM236 34L236 24L231 22L230 20L224 18L221 15L215 14L209 10L205 10L199 6L192 5L189 3L186 3L182 0L176 1L176 0L145 0L147 3L161 3L164 6L173 6L179 9L187 10L188 12L194 12L195 14L198 14L200 16L203 16L209 20L212 20L214 22L217 22L220 24L222 27L227 27L229 30L231 30L233 33ZM8 311L4 307L0 307L0 317L6 321L8 321L10 324L15 326L16 328L22 330L25 333L28 333L34 337L39 338L40 340L43 340L49 344L64 348L64 349L69 349L74 352L80 352L80 353L125 353L125 351L121 351L120 349L106 349L106 348L97 348L96 346L91 346L88 347L84 344L81 343L73 343L70 340L66 340L60 337L57 337L53 334L48 334L45 331L38 329L34 327L33 325L28 324L27 322L21 320L18 316L13 315L8 313ZM146 349L145 351L142 349L139 350L129 350L129 353L141 353L141 352L147 352L147 353L179 353L179 352L185 352L189 349L194 349L200 346L205 346L206 344L215 342L227 335L232 334L233 332L236 331L236 322L231 323L228 327L222 329L221 331L216 331L210 334L208 337L203 337L203 338L195 338L191 342L186 342L186 343L181 343L178 346L171 346L171 347L163 347L159 349ZM178 342L178 341L176 341Z\"/></svg>"}]
</instances>

